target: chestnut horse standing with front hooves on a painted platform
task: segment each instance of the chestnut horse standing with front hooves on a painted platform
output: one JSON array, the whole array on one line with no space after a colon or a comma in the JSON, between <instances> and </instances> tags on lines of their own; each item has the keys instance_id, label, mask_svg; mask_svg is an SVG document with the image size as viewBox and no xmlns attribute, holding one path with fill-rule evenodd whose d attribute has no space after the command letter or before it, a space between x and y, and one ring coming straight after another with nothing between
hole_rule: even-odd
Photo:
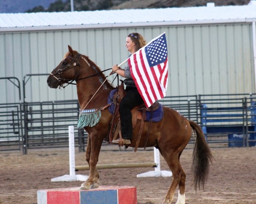
<instances>
[{"instance_id":1,"label":"chestnut horse standing with front hooves on a painted platform","mask_svg":"<svg viewBox=\"0 0 256 204\"><path fill-rule=\"evenodd\" d=\"M64 59L50 73L47 83L50 88L58 88L64 83L76 81L78 101L81 109L100 109L108 104L107 99L114 89L105 75L95 63L87 56L81 55L68 46L69 52ZM105 83L104 83L105 82ZM102 83L104 83L102 85ZM188 121L175 109L163 106L163 119L157 123L151 123L150 134L147 131L150 122L145 122L139 147L156 147L167 162L172 171L173 179L164 198L164 204L170 204L173 200L177 185L179 186L177 204L185 204L185 179L186 174L180 166L180 155L189 142L191 135L196 135L193 151L192 171L195 189L203 187L207 181L209 164L212 161L211 151L205 141L204 134L195 122ZM99 187L99 172L96 164L99 152L105 136L108 134L112 115L108 109L101 110L101 118L94 126L85 126L88 132L86 149L86 161L90 166L90 174L86 182L81 184L81 190ZM128 147L135 147L140 120L133 130L133 138ZM145 142L147 140L147 142Z\"/></svg>"}]
</instances>

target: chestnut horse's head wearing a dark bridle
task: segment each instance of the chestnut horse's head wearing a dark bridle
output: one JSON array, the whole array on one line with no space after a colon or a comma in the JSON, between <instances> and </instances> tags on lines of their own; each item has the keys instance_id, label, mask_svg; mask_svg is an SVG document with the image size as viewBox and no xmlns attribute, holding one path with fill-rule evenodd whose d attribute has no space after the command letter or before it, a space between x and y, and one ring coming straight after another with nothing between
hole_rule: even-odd
<instances>
[{"instance_id":1,"label":"chestnut horse's head wearing a dark bridle","mask_svg":"<svg viewBox=\"0 0 256 204\"><path fill-rule=\"evenodd\" d=\"M69 52L64 56L64 59L53 69L47 78L47 83L50 88L58 88L64 83L71 83L76 80L80 74L79 58L81 54L74 51L68 46Z\"/></svg>"}]
</instances>

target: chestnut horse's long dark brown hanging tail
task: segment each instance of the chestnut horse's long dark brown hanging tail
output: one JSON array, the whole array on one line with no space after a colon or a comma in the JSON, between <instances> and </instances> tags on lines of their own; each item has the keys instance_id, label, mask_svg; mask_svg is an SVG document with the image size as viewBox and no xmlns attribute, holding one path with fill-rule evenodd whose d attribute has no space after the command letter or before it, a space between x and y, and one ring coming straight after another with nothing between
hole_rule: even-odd
<instances>
[{"instance_id":1,"label":"chestnut horse's long dark brown hanging tail","mask_svg":"<svg viewBox=\"0 0 256 204\"><path fill-rule=\"evenodd\" d=\"M195 190L197 189L197 186L199 189L200 187L204 189L204 184L206 183L209 174L210 162L212 162L213 157L200 126L193 121L189 121L189 124L196 132L192 163Z\"/></svg>"}]
</instances>

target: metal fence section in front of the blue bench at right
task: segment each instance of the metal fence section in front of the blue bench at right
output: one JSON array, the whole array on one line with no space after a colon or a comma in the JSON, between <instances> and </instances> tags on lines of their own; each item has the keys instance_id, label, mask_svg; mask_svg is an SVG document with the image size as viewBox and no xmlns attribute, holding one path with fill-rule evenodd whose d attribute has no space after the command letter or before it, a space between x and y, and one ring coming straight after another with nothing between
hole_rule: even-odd
<instances>
[{"instance_id":1,"label":"metal fence section in front of the blue bench at right","mask_svg":"<svg viewBox=\"0 0 256 204\"><path fill-rule=\"evenodd\" d=\"M200 124L207 143L255 146L255 101L255 94L199 95Z\"/></svg>"}]
</instances>

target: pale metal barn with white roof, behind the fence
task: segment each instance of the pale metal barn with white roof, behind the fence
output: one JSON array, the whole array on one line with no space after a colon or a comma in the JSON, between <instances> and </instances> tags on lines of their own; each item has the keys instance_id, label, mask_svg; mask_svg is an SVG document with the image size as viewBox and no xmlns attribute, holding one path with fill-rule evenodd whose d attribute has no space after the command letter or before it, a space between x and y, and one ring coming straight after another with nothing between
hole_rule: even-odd
<instances>
[{"instance_id":1,"label":"pale metal barn with white roof, behind the fence","mask_svg":"<svg viewBox=\"0 0 256 204\"><path fill-rule=\"evenodd\" d=\"M101 69L128 56L125 37L147 41L166 32L169 52L167 96L255 92L256 5L0 14L1 77L22 83L28 74L49 73L68 51L87 55ZM107 75L108 73L106 73ZM25 77L25 80L27 78ZM47 87L46 76L26 83L26 101L70 100ZM0 80L1 103L17 100ZM23 91L21 92L23 95Z\"/></svg>"}]
</instances>

